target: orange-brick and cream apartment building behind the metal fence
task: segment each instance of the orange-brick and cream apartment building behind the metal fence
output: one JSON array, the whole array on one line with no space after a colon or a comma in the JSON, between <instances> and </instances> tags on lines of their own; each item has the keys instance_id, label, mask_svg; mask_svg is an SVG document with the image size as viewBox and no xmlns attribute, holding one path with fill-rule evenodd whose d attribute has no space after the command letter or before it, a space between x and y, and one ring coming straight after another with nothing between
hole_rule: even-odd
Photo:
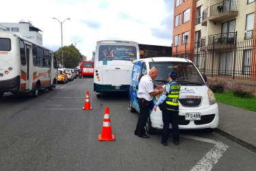
<instances>
[{"instance_id":1,"label":"orange-brick and cream apartment building behind the metal fence","mask_svg":"<svg viewBox=\"0 0 256 171\"><path fill-rule=\"evenodd\" d=\"M216 82L247 81L255 91L255 8L255 0L175 0L172 54Z\"/></svg>"}]
</instances>

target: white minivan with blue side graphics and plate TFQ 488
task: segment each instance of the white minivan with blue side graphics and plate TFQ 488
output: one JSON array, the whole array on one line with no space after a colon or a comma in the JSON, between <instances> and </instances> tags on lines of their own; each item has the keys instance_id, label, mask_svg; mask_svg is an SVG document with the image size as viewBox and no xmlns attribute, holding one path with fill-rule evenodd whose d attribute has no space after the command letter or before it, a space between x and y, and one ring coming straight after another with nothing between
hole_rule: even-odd
<instances>
[{"instance_id":1,"label":"white minivan with blue side graphics and plate TFQ 488","mask_svg":"<svg viewBox=\"0 0 256 171\"><path fill-rule=\"evenodd\" d=\"M151 57L133 61L131 85L129 88L130 111L140 111L137 92L140 78L149 73L153 67L158 75L154 83L164 86L168 83L168 73L175 70L178 73L176 81L181 85L179 93L179 129L205 129L212 133L218 127L218 104L212 90L209 89L207 78L190 60L179 57ZM153 107L160 95L153 98L150 118L146 123L146 132L155 133L156 129L163 129L162 111ZM170 124L171 128L171 124Z\"/></svg>"}]
</instances>

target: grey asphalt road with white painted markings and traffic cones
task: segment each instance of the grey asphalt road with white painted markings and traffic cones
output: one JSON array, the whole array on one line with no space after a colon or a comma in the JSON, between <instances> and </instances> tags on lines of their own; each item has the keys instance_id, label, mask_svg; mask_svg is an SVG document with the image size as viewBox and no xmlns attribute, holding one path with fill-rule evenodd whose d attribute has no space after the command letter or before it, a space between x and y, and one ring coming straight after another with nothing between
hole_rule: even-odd
<instances>
[{"instance_id":1,"label":"grey asphalt road with white painted markings and traffic cones","mask_svg":"<svg viewBox=\"0 0 256 171\"><path fill-rule=\"evenodd\" d=\"M86 92L92 110L83 110ZM99 142L105 107L115 141ZM37 98L0 100L0 170L256 170L256 153L218 133L181 131L179 146L160 144L161 131L133 135L138 113L127 94L97 98L93 79L75 79Z\"/></svg>"}]
</instances>

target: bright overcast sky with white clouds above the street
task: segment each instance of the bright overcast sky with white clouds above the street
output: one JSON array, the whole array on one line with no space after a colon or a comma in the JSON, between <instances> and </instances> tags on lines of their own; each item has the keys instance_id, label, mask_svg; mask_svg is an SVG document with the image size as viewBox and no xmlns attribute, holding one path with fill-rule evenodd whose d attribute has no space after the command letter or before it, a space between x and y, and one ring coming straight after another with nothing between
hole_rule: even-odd
<instances>
[{"instance_id":1,"label":"bright overcast sky with white clouds above the street","mask_svg":"<svg viewBox=\"0 0 256 171\"><path fill-rule=\"evenodd\" d=\"M31 21L42 30L42 44L56 51L77 42L92 58L99 40L131 40L171 46L173 0L11 0L1 1L0 23ZM81 42L78 42L81 41ZM74 44L74 43L73 43Z\"/></svg>"}]
</instances>

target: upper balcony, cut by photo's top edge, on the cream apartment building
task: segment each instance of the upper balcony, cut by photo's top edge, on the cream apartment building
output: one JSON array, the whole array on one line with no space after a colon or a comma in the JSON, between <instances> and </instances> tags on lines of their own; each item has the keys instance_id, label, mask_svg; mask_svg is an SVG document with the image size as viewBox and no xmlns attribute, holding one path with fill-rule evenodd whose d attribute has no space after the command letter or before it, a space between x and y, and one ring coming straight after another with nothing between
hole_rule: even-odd
<instances>
[{"instance_id":1,"label":"upper balcony, cut by photo's top edge, on the cream apartment building","mask_svg":"<svg viewBox=\"0 0 256 171\"><path fill-rule=\"evenodd\" d=\"M203 13L208 14L207 11ZM202 25L207 25L207 21L220 22L233 18L238 15L238 1L228 0L216 3L215 5L210 6L209 16L203 18Z\"/></svg>"}]
</instances>

